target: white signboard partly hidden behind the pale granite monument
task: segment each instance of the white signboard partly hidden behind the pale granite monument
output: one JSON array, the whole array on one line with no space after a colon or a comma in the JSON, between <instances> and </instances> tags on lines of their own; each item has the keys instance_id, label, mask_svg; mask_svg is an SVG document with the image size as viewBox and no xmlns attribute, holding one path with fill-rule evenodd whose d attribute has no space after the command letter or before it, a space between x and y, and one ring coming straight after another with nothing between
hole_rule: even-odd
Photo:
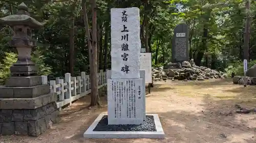
<instances>
[{"instance_id":1,"label":"white signboard partly hidden behind the pale granite monument","mask_svg":"<svg viewBox=\"0 0 256 143\"><path fill-rule=\"evenodd\" d=\"M145 83L152 83L152 58L151 53L140 53L140 69L145 70Z\"/></svg>"}]
</instances>

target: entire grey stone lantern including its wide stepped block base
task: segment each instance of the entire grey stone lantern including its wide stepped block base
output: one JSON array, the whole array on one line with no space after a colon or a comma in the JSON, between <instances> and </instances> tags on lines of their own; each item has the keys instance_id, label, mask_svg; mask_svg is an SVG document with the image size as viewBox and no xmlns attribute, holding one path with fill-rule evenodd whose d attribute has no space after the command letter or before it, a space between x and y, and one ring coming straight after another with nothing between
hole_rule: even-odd
<instances>
[{"instance_id":1,"label":"entire grey stone lantern including its wide stepped block base","mask_svg":"<svg viewBox=\"0 0 256 143\"><path fill-rule=\"evenodd\" d=\"M17 14L0 18L0 23L13 28L10 46L18 53L17 62L10 68L11 77L0 87L0 134L38 136L58 119L57 95L43 84L31 61L31 50L36 47L31 28L44 23L30 17L24 3L18 6Z\"/></svg>"}]
</instances>

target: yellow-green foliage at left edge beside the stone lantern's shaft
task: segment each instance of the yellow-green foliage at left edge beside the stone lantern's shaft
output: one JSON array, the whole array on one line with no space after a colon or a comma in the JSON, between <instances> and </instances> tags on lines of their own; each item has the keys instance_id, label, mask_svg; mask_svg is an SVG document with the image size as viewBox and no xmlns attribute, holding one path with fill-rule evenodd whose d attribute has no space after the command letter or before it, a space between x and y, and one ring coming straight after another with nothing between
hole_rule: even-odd
<instances>
[{"instance_id":1,"label":"yellow-green foliage at left edge beside the stone lantern's shaft","mask_svg":"<svg viewBox=\"0 0 256 143\"><path fill-rule=\"evenodd\" d=\"M17 54L13 52L5 52L5 58L0 63L0 84L5 82L5 79L10 76L10 67L17 61Z\"/></svg>"}]
</instances>

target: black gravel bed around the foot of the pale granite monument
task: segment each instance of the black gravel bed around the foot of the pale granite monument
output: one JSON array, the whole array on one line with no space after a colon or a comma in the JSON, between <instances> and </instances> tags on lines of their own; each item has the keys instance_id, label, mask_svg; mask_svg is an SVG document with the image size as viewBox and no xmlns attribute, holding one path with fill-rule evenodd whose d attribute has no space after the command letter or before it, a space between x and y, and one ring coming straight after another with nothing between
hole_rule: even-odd
<instances>
[{"instance_id":1,"label":"black gravel bed around the foot of the pale granite monument","mask_svg":"<svg viewBox=\"0 0 256 143\"><path fill-rule=\"evenodd\" d=\"M105 115L99 121L93 131L144 131L156 132L154 116L147 116L143 124L140 125L108 125L108 116Z\"/></svg>"}]
</instances>

